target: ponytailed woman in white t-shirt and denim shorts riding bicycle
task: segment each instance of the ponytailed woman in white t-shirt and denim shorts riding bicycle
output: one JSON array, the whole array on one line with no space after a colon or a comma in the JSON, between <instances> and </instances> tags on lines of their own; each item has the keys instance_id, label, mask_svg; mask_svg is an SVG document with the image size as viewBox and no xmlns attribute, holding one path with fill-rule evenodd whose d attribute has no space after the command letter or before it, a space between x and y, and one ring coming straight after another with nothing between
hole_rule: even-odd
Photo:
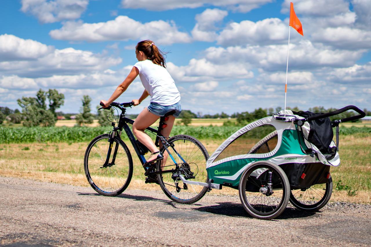
<instances>
[{"instance_id":1,"label":"ponytailed woman in white t-shirt and denim shorts riding bicycle","mask_svg":"<svg viewBox=\"0 0 371 247\"><path fill-rule=\"evenodd\" d=\"M155 146L150 136L144 130L151 126L160 117L169 111L175 111L165 121L167 127L161 132L162 136L168 137L173 128L175 117L181 112L180 93L175 86L173 78L166 70L165 59L162 52L151 40L140 41L135 47L138 62L134 64L126 79L116 88L112 96L107 100L101 100L104 107L108 107L128 88L130 83L139 75L144 91L139 99L134 99L134 106L140 104L148 95L151 96L150 104L139 113L133 124L133 133L137 139L144 144L152 154L144 165L162 160L164 156Z\"/></svg>"}]
</instances>

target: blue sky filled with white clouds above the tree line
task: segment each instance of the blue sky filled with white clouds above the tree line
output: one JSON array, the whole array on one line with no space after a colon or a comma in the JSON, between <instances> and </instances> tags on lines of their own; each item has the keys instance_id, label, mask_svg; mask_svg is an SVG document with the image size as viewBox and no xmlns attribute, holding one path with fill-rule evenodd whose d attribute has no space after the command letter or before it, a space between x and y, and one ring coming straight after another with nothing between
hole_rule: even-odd
<instances>
[{"instance_id":1,"label":"blue sky filled with white clouds above the tree line","mask_svg":"<svg viewBox=\"0 0 371 247\"><path fill-rule=\"evenodd\" d=\"M291 30L288 106L371 109L369 0L294 1L304 37ZM183 109L203 114L283 107L290 1L3 0L0 106L40 88L65 94L76 113L84 94L108 99L152 39ZM136 79L118 101L137 99ZM139 113L149 98L131 113ZM95 111L95 110L94 110Z\"/></svg>"}]
</instances>

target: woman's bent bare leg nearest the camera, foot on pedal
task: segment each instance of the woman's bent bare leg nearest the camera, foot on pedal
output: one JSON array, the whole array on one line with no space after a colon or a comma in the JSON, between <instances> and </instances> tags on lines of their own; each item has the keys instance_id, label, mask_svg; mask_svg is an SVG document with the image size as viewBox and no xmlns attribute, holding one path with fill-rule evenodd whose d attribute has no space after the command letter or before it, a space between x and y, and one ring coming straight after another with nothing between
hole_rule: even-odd
<instances>
[{"instance_id":1,"label":"woman's bent bare leg nearest the camera, foot on pedal","mask_svg":"<svg viewBox=\"0 0 371 247\"><path fill-rule=\"evenodd\" d=\"M155 153L158 150L156 145L153 143L152 139L148 134L144 132L146 128L151 126L159 116L150 113L147 108L143 109L141 113L139 113L137 119L135 119L133 124L133 134L137 139L144 144L150 150L152 153ZM157 156L155 156L153 159L155 159Z\"/></svg>"}]
</instances>

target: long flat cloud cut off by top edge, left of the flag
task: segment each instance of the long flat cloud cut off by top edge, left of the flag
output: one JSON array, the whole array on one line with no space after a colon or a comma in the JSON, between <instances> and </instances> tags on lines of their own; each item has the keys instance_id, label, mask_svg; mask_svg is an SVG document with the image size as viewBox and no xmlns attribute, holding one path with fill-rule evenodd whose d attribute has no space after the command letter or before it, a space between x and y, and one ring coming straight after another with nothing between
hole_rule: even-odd
<instances>
[{"instance_id":1,"label":"long flat cloud cut off by top edge, left of the flag","mask_svg":"<svg viewBox=\"0 0 371 247\"><path fill-rule=\"evenodd\" d=\"M204 5L227 7L240 12L249 12L272 0L122 0L121 4L126 9L147 9L147 10L171 10L179 8L198 8Z\"/></svg>"}]
</instances>

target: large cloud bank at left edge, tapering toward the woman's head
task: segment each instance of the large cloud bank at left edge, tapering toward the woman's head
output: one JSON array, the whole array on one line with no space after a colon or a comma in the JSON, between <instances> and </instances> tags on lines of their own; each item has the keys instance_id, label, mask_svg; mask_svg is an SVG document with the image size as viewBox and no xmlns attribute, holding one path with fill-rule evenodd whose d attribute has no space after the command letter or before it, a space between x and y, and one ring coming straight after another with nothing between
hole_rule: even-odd
<instances>
[{"instance_id":1,"label":"large cloud bank at left edge, tapering toward the woman's head","mask_svg":"<svg viewBox=\"0 0 371 247\"><path fill-rule=\"evenodd\" d=\"M122 62L120 58L75 50L54 49L34 40L13 35L0 36L0 72L22 77L48 77L105 70Z\"/></svg>"}]
</instances>

